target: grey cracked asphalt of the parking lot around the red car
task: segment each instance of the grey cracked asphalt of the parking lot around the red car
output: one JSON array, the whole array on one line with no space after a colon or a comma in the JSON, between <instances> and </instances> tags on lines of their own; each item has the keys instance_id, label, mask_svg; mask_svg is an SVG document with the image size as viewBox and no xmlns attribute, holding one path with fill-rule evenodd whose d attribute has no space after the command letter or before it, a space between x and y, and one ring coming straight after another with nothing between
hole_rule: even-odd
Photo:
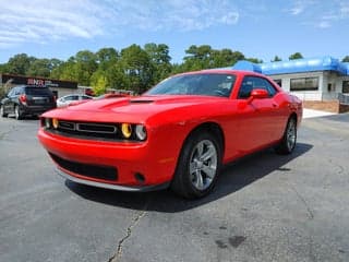
<instances>
[{"instance_id":1,"label":"grey cracked asphalt of the parking lot around the red car","mask_svg":"<svg viewBox=\"0 0 349 262\"><path fill-rule=\"evenodd\" d=\"M0 119L0 261L349 261L349 115L310 118L290 156L225 167L215 191L127 193L55 174L38 121Z\"/></svg>"}]
</instances>

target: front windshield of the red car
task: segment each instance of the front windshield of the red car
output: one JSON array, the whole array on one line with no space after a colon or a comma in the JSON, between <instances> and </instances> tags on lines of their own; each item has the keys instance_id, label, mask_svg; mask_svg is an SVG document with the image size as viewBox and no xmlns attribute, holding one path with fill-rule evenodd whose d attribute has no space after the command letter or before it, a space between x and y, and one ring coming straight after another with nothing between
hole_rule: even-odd
<instances>
[{"instance_id":1,"label":"front windshield of the red car","mask_svg":"<svg viewBox=\"0 0 349 262\"><path fill-rule=\"evenodd\" d=\"M146 95L205 95L229 97L236 75L218 73L183 74L164 80Z\"/></svg>"}]
</instances>

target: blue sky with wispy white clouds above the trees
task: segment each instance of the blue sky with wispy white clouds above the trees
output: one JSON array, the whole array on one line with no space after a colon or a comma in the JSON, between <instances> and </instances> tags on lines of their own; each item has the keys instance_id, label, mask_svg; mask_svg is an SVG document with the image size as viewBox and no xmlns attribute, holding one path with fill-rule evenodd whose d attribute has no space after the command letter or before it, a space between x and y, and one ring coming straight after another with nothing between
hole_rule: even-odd
<instances>
[{"instance_id":1,"label":"blue sky with wispy white clouds above the trees","mask_svg":"<svg viewBox=\"0 0 349 262\"><path fill-rule=\"evenodd\" d=\"M167 44L275 55L349 56L349 0L0 0L0 63L16 53L67 60L77 51Z\"/></svg>"}]
</instances>

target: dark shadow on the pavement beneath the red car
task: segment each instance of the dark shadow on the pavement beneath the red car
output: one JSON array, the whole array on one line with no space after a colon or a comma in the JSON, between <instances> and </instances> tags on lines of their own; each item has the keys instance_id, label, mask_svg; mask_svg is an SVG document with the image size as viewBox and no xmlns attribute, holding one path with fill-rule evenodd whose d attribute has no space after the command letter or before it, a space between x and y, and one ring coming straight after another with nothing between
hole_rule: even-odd
<instances>
[{"instance_id":1,"label":"dark shadow on the pavement beneath the red car","mask_svg":"<svg viewBox=\"0 0 349 262\"><path fill-rule=\"evenodd\" d=\"M217 184L210 194L198 200L186 200L170 190L155 192L121 192L79 184L65 180L67 187L82 198L108 205L131 210L157 211L165 213L182 212L217 201L232 194L273 171L290 171L285 165L305 154L313 145L298 143L290 155L277 155L268 148L233 162L224 167Z\"/></svg>"}]
</instances>

